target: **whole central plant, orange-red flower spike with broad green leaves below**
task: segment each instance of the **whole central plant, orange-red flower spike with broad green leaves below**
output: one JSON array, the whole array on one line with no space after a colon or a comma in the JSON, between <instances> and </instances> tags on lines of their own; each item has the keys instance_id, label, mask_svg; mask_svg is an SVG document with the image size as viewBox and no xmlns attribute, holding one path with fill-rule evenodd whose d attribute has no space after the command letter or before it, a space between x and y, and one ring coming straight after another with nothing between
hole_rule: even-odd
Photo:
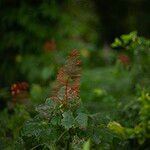
<instances>
[{"instance_id":1,"label":"whole central plant, orange-red flower spike with broad green leaves below","mask_svg":"<svg viewBox=\"0 0 150 150\"><path fill-rule=\"evenodd\" d=\"M22 137L26 148L34 147L26 143L29 138L40 147L55 146L58 149L80 146L85 141L88 115L79 104L78 55L77 51L70 54L66 65L58 72L58 83L52 97L37 107L39 114L25 124Z\"/></svg>"}]
</instances>

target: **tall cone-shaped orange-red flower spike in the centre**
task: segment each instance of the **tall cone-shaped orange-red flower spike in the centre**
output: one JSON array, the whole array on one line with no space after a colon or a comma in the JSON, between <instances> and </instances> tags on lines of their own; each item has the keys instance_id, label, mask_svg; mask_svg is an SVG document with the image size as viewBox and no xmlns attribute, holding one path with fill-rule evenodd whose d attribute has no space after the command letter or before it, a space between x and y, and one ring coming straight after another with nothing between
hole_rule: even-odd
<instances>
[{"instance_id":1,"label":"tall cone-shaped orange-red flower spike in the centre","mask_svg":"<svg viewBox=\"0 0 150 150\"><path fill-rule=\"evenodd\" d=\"M79 52L74 50L58 71L57 85L51 97L53 101L67 106L70 100L79 99L80 65Z\"/></svg>"}]
</instances>

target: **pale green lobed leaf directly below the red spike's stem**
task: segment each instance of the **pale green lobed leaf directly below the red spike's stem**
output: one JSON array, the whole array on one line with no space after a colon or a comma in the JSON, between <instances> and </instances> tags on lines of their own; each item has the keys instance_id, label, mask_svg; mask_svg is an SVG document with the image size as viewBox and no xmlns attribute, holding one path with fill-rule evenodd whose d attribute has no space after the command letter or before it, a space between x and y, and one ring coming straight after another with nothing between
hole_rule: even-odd
<instances>
[{"instance_id":1,"label":"pale green lobed leaf directly below the red spike's stem","mask_svg":"<svg viewBox=\"0 0 150 150\"><path fill-rule=\"evenodd\" d=\"M61 120L61 124L62 126L65 127L65 129L69 130L75 122L72 112L71 111L64 112L62 116L63 119Z\"/></svg>"}]
</instances>

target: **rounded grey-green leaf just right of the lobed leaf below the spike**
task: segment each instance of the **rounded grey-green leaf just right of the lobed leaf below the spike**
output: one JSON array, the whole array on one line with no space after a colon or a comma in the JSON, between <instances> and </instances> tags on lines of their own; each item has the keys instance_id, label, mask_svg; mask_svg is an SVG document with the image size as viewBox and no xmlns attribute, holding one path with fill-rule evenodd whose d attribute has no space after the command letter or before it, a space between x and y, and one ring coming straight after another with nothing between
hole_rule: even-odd
<instances>
[{"instance_id":1,"label":"rounded grey-green leaf just right of the lobed leaf below the spike","mask_svg":"<svg viewBox=\"0 0 150 150\"><path fill-rule=\"evenodd\" d=\"M79 113L76 121L81 128L86 128L88 123L88 116L85 113Z\"/></svg>"}]
</instances>

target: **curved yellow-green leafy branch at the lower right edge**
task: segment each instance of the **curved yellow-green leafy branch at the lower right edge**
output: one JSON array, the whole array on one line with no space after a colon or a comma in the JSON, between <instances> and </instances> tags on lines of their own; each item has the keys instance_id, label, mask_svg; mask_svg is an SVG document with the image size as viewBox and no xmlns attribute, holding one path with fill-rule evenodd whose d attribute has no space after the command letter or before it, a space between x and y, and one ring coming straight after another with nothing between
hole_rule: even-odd
<instances>
[{"instance_id":1,"label":"curved yellow-green leafy branch at the lower right edge","mask_svg":"<svg viewBox=\"0 0 150 150\"><path fill-rule=\"evenodd\" d=\"M134 139L138 140L140 145L146 145L147 141L150 138L150 125L149 125L149 94L142 92L141 97L139 98L141 108L139 110L139 119L138 124L134 124L133 128L123 127L117 122L110 122L108 128L112 130L118 138L121 139Z\"/></svg>"}]
</instances>

